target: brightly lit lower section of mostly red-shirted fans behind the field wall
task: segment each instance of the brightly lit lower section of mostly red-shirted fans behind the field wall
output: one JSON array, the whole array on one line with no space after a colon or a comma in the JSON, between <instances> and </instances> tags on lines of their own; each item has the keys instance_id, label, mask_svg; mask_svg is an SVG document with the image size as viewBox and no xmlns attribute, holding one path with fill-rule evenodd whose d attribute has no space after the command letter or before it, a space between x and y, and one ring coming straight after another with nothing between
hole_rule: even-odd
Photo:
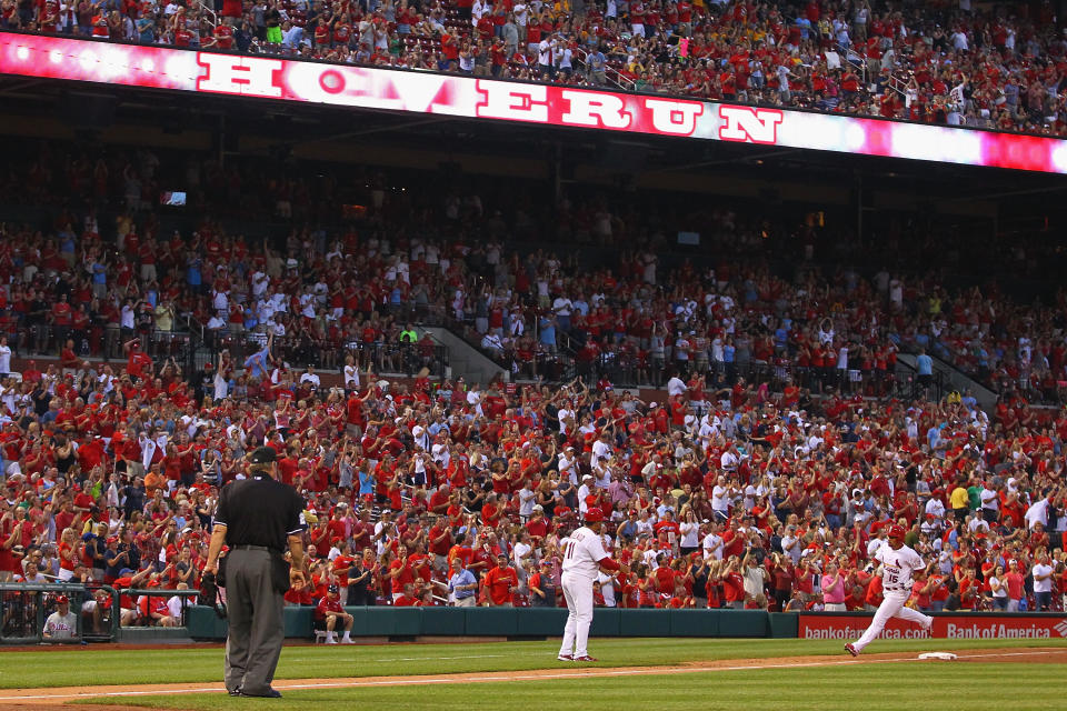
<instances>
[{"instance_id":1,"label":"brightly lit lower section of mostly red-shirted fans behind the field wall","mask_svg":"<svg viewBox=\"0 0 1067 711\"><path fill-rule=\"evenodd\" d=\"M357 577L382 603L433 603L458 558L481 602L525 604L531 584L559 589L560 539L595 505L631 564L599 591L627 607L818 605L831 563L849 609L877 604L868 563L890 522L931 561L924 607L985 609L999 584L1027 600L1046 565L1045 590L1067 582L1063 413L1036 430L964 404L796 401L740 383L721 400L647 404L581 385L449 387L307 394L279 428L288 405L180 414L181 387L86 404L44 377L47 413L6 417L0 433L0 565L20 575L39 548L62 579L195 584L218 488L265 440L308 501L313 588L295 603Z\"/></svg>"}]
</instances>

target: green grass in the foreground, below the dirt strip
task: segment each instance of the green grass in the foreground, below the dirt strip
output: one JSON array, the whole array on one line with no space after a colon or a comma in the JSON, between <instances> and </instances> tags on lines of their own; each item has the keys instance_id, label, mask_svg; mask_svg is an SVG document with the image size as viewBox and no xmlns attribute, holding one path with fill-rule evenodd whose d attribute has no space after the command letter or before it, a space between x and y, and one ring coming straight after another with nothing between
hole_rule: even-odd
<instances>
[{"instance_id":1,"label":"green grass in the foreground, below the dirt strip","mask_svg":"<svg viewBox=\"0 0 1067 711\"><path fill-rule=\"evenodd\" d=\"M439 684L426 687L323 689L287 691L282 699L232 699L225 694L190 694L99 699L189 711L271 711L318 709L580 709L657 711L728 709L730 711L956 711L958 709L1061 709L1067 664L986 664L927 662L861 664L826 669L768 669L699 672L670 677L627 677Z\"/></svg>"}]
</instances>

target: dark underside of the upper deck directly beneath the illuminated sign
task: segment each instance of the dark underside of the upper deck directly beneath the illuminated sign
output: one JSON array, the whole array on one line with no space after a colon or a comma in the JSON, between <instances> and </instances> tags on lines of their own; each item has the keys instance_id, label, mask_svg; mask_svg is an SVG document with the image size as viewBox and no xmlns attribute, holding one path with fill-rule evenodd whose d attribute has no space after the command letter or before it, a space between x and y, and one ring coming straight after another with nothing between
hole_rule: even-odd
<instances>
[{"instance_id":1,"label":"dark underside of the upper deck directly beneath the illuminated sign","mask_svg":"<svg viewBox=\"0 0 1067 711\"><path fill-rule=\"evenodd\" d=\"M1063 202L1049 197L1067 189L1023 171L56 80L0 77L0 97L10 138L824 203L857 220L895 209L1013 224L1036 209L1044 223Z\"/></svg>"}]
</instances>

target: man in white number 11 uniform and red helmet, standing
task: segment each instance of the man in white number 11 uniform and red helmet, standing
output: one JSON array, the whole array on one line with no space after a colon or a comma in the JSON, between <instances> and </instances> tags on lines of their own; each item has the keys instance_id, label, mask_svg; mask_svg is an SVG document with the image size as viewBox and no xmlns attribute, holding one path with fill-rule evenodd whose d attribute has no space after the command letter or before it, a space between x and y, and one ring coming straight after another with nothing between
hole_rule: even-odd
<instances>
[{"instance_id":1,"label":"man in white number 11 uniform and red helmet, standing","mask_svg":"<svg viewBox=\"0 0 1067 711\"><path fill-rule=\"evenodd\" d=\"M592 622L592 583L601 568L622 570L608 557L600 540L604 513L600 509L586 511L586 524L570 534L564 543L564 572L560 582L567 599L567 627L564 644L559 649L561 662L595 662L586 647L589 643L589 624Z\"/></svg>"}]
</instances>

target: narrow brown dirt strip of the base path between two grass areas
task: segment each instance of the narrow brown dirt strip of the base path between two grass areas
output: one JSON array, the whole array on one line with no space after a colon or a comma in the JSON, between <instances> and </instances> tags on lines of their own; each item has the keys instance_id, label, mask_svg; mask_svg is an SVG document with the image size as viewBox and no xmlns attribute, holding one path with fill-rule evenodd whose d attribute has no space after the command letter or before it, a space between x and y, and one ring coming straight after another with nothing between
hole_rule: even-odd
<instances>
[{"instance_id":1,"label":"narrow brown dirt strip of the base path between two grass areas","mask_svg":"<svg viewBox=\"0 0 1067 711\"><path fill-rule=\"evenodd\" d=\"M847 664L870 664L886 662L938 663L920 661L918 652L895 652L864 654L858 659L842 657L775 657L765 659L726 659L702 662L685 662L674 667L572 667L557 663L554 668L526 671L479 672L468 674L433 674L411 677L356 677L345 679L285 679L277 680L275 688L280 691L312 689L357 689L361 687L407 687L441 683L488 683L501 681L539 681L546 679L591 679L605 677L632 677L650 674L685 674L709 671L745 671L751 669L798 669L809 667L837 667ZM1001 663L1067 663L1067 649L1031 648L1020 650L985 649L960 652L960 662L1001 662ZM79 699L113 699L112 705L97 705L100 711L128 711L123 699L131 697L221 693L218 683L182 684L136 684L122 687L62 687L48 689L8 689L0 690L0 711L74 711L68 702ZM84 707L77 708L82 711Z\"/></svg>"}]
</instances>

